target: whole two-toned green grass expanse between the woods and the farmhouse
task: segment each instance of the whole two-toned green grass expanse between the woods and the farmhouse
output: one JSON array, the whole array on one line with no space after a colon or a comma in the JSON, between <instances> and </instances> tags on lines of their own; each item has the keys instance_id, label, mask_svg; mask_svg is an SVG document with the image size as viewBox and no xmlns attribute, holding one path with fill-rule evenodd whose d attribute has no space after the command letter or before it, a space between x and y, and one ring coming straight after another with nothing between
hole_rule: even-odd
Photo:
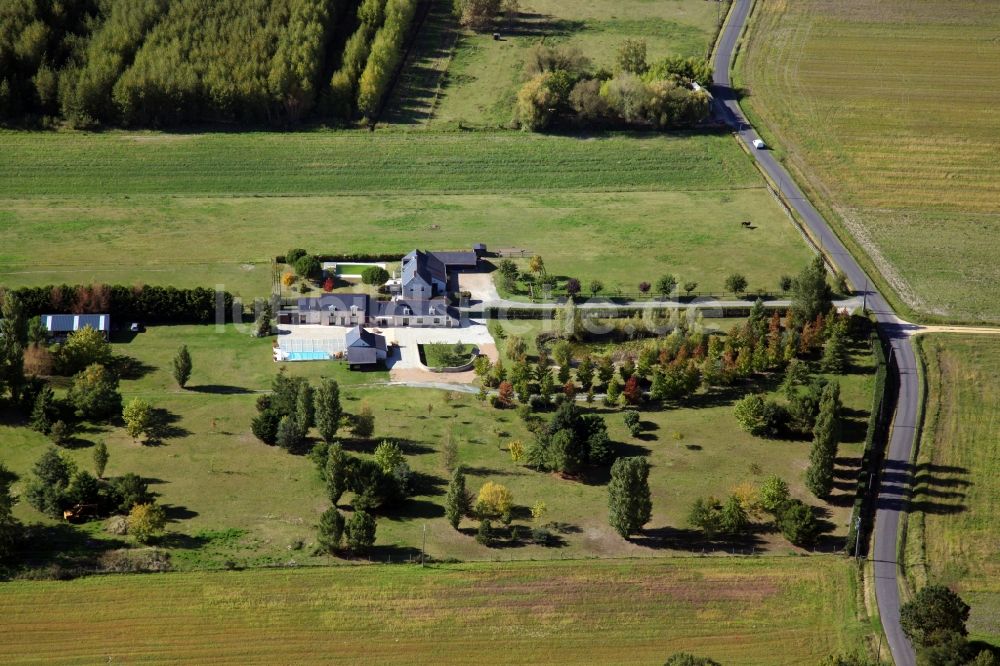
<instances>
[{"instance_id":1,"label":"whole two-toned green grass expanse between the woods and the farmhouse","mask_svg":"<svg viewBox=\"0 0 1000 666\"><path fill-rule=\"evenodd\" d=\"M224 285L253 297L270 292L269 262L289 247L402 256L485 242L609 289L670 270L721 290L732 270L773 287L809 256L726 136L7 133L0 143L9 286Z\"/></svg>"}]
</instances>

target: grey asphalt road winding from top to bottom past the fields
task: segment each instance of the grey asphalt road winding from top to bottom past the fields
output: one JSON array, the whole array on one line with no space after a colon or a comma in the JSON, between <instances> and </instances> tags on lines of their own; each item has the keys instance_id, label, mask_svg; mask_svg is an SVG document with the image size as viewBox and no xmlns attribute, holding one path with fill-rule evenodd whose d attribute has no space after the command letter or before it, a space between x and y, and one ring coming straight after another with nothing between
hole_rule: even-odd
<instances>
[{"instance_id":1,"label":"grey asphalt road winding from top to bottom past the fields","mask_svg":"<svg viewBox=\"0 0 1000 666\"><path fill-rule=\"evenodd\" d=\"M896 316L888 302L872 286L871 280L858 262L770 151L754 149L753 141L760 137L743 115L729 78L736 44L751 5L752 0L734 1L729 21L719 38L719 47L713 62L715 79L712 94L715 97L717 113L732 126L734 133L747 146L784 199L798 212L824 253L847 275L847 279L855 289L864 288L869 309L874 312L879 327L891 340L892 355L889 362L892 370L898 374L899 394L885 459L885 471L876 503L875 546L872 556L879 615L893 660L897 666L915 666L916 655L913 646L910 645L899 624L899 567L896 562L899 519L906 508L906 489L909 486L911 472L910 453L916 434L920 393L916 356L913 353L910 337L906 334L906 331L913 326ZM859 292L859 295L861 293Z\"/></svg>"}]
</instances>

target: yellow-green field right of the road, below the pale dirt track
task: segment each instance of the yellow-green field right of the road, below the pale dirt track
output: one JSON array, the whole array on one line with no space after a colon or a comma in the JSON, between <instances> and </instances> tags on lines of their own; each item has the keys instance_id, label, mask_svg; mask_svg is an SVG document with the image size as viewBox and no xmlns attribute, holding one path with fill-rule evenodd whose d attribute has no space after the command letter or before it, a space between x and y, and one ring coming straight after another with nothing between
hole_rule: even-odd
<instances>
[{"instance_id":1,"label":"yellow-green field right of the road, below the pale dirt track","mask_svg":"<svg viewBox=\"0 0 1000 666\"><path fill-rule=\"evenodd\" d=\"M918 586L954 586L972 606L972 637L1000 646L1000 340L920 341L928 395L908 569Z\"/></svg>"}]
</instances>

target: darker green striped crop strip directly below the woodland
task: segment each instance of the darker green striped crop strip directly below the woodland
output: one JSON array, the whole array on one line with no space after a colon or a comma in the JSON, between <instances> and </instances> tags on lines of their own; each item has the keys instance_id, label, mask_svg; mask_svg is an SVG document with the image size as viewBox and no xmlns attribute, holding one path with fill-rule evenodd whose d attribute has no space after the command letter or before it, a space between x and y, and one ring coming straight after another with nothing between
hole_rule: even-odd
<instances>
[{"instance_id":1,"label":"darker green striped crop strip directly below the woodland","mask_svg":"<svg viewBox=\"0 0 1000 666\"><path fill-rule=\"evenodd\" d=\"M725 134L0 132L0 197L760 187Z\"/></svg>"}]
</instances>

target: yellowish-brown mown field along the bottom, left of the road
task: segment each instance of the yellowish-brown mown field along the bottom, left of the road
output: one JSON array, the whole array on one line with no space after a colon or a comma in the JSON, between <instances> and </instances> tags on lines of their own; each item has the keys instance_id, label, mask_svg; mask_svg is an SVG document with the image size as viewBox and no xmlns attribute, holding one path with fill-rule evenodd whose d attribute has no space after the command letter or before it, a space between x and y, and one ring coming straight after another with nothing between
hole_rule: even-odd
<instances>
[{"instance_id":1,"label":"yellowish-brown mown field along the bottom, left of the road","mask_svg":"<svg viewBox=\"0 0 1000 666\"><path fill-rule=\"evenodd\" d=\"M816 663L859 646L850 563L675 559L93 577L0 588L4 661Z\"/></svg>"}]
</instances>

